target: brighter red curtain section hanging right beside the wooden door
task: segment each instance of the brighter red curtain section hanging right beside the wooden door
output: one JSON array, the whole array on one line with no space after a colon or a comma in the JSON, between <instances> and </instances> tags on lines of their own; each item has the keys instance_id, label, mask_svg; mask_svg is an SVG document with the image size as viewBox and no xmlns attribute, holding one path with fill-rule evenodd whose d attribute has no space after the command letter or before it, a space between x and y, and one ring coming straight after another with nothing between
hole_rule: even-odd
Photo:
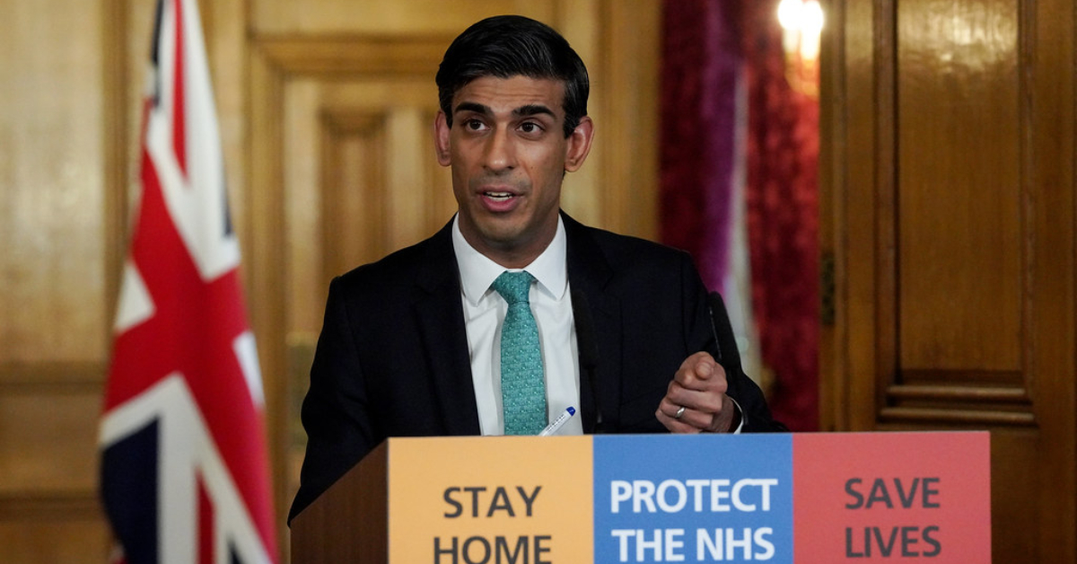
<instances>
[{"instance_id":1,"label":"brighter red curtain section hanging right beside the wooden door","mask_svg":"<svg viewBox=\"0 0 1077 564\"><path fill-rule=\"evenodd\" d=\"M819 428L819 101L786 81L775 0L745 2L747 226L752 302L770 400L794 430Z\"/></svg>"}]
</instances>

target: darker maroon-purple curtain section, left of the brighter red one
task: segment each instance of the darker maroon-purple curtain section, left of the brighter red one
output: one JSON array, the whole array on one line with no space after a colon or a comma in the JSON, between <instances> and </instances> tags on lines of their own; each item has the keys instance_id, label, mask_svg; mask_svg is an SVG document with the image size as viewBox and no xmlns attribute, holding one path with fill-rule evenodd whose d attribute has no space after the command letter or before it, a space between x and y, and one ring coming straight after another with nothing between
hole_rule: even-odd
<instances>
[{"instance_id":1,"label":"darker maroon-purple curtain section, left of the brighter red one","mask_svg":"<svg viewBox=\"0 0 1077 564\"><path fill-rule=\"evenodd\" d=\"M667 0L662 33L661 238L724 290L743 81L739 2Z\"/></svg>"}]
</instances>

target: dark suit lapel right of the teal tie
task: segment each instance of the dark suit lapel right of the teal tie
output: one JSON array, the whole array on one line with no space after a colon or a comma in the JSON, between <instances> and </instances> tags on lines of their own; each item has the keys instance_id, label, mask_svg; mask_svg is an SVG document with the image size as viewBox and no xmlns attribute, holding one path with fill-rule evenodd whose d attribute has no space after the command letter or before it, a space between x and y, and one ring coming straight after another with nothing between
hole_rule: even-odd
<instances>
[{"instance_id":1,"label":"dark suit lapel right of the teal tie","mask_svg":"<svg viewBox=\"0 0 1077 564\"><path fill-rule=\"evenodd\" d=\"M615 426L619 418L621 304L617 297L605 291L614 273L588 228L565 214L561 217L568 240L569 284L573 293L582 292L586 298L598 348L593 374L579 367L581 415L584 432L601 432L603 428ZM600 414L601 425L598 424Z\"/></svg>"}]
</instances>

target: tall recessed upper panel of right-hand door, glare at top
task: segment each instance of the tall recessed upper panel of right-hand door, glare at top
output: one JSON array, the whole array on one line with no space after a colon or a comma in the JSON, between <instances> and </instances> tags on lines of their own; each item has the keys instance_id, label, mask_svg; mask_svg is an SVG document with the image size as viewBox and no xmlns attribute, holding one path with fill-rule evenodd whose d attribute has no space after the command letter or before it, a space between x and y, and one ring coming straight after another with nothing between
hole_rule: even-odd
<instances>
[{"instance_id":1,"label":"tall recessed upper panel of right-hand door, glare at top","mask_svg":"<svg viewBox=\"0 0 1077 564\"><path fill-rule=\"evenodd\" d=\"M1018 2L900 2L894 13L900 366L1018 370Z\"/></svg>"}]
</instances>

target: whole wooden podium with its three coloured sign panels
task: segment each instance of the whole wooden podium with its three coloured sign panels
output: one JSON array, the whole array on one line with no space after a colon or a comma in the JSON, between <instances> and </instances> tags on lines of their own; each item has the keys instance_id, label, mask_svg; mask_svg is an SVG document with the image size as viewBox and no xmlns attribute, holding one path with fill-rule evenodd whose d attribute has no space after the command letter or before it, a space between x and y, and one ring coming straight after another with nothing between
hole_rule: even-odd
<instances>
[{"instance_id":1,"label":"whole wooden podium with its three coloured sign panels","mask_svg":"<svg viewBox=\"0 0 1077 564\"><path fill-rule=\"evenodd\" d=\"M292 562L990 563L987 432L390 439Z\"/></svg>"}]
</instances>

